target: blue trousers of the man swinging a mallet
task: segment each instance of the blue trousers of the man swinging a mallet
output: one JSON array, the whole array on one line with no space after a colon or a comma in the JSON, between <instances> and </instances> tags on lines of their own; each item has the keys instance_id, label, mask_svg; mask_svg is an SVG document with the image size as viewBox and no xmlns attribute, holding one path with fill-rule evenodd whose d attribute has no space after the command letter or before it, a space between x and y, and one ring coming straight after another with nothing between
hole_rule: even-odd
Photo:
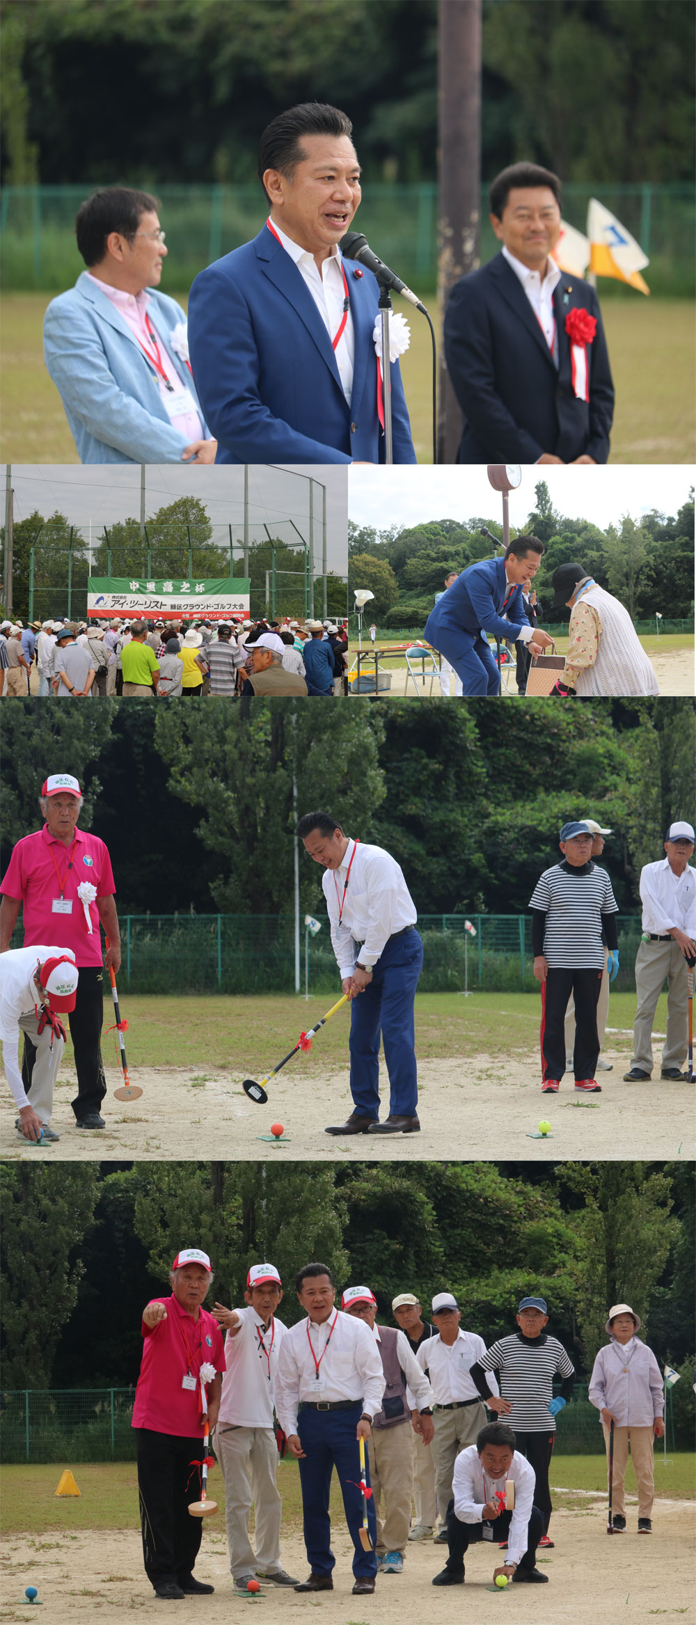
<instances>
[{"instance_id":1,"label":"blue trousers of the man swinging a mallet","mask_svg":"<svg viewBox=\"0 0 696 1625\"><path fill-rule=\"evenodd\" d=\"M372 982L351 999L350 1089L361 1116L379 1118L379 1035L382 1034L394 1116L418 1107L413 1003L423 970L418 931L390 938L372 968Z\"/></svg>"}]
</instances>

